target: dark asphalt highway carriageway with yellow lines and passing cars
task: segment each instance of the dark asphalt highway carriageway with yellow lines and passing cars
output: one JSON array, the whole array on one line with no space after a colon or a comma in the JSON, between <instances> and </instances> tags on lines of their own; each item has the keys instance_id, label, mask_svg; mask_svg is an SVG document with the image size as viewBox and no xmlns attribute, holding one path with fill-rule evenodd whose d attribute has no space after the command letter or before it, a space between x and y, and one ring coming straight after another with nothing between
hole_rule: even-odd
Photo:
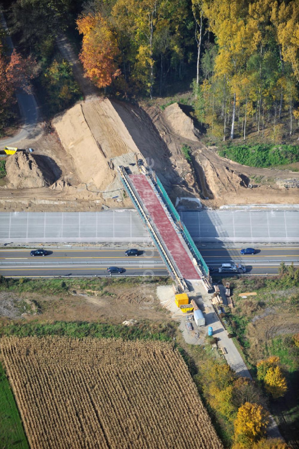
<instances>
[{"instance_id":1,"label":"dark asphalt highway carriageway with yellow lines and passing cars","mask_svg":"<svg viewBox=\"0 0 299 449\"><path fill-rule=\"evenodd\" d=\"M127 248L45 249L50 252L45 257L31 257L30 249L1 249L0 273L6 277L110 276L107 267L117 266L124 268L125 273L112 274L113 277L168 274L158 252L149 248L138 257L125 257ZM241 247L200 246L206 263L215 270L212 274L217 274L217 268L228 262L241 262L246 266L246 274L255 275L276 274L281 260L286 264L294 262L299 268L298 245L265 245L256 249L255 255L241 255Z\"/></svg>"}]
</instances>

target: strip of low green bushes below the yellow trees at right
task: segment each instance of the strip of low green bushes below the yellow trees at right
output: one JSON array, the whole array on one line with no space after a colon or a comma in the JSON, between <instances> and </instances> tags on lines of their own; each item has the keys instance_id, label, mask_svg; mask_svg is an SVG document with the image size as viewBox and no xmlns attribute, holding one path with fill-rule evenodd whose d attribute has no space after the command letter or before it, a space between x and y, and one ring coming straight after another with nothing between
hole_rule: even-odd
<instances>
[{"instance_id":1,"label":"strip of low green bushes below the yellow trees at right","mask_svg":"<svg viewBox=\"0 0 299 449\"><path fill-rule=\"evenodd\" d=\"M219 155L250 167L272 167L299 162L299 145L228 145Z\"/></svg>"}]
</instances>

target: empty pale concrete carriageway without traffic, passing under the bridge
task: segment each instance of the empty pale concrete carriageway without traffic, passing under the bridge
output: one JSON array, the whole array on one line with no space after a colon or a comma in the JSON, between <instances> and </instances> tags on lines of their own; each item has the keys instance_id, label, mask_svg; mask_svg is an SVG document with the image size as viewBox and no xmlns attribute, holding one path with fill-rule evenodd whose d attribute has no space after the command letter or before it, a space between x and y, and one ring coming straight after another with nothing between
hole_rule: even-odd
<instances>
[{"instance_id":1,"label":"empty pale concrete carriageway without traffic, passing under the bridge","mask_svg":"<svg viewBox=\"0 0 299 449\"><path fill-rule=\"evenodd\" d=\"M299 242L299 210L182 212L196 242ZM135 210L0 212L0 242L150 242Z\"/></svg>"}]
</instances>

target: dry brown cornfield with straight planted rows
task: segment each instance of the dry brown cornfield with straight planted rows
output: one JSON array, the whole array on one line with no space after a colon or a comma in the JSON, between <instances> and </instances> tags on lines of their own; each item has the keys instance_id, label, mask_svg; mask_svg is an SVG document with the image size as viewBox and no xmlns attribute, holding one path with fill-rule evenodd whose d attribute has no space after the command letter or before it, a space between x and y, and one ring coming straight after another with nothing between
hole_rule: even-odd
<instances>
[{"instance_id":1,"label":"dry brown cornfield with straight planted rows","mask_svg":"<svg viewBox=\"0 0 299 449\"><path fill-rule=\"evenodd\" d=\"M31 449L223 448L169 343L0 340Z\"/></svg>"}]
</instances>

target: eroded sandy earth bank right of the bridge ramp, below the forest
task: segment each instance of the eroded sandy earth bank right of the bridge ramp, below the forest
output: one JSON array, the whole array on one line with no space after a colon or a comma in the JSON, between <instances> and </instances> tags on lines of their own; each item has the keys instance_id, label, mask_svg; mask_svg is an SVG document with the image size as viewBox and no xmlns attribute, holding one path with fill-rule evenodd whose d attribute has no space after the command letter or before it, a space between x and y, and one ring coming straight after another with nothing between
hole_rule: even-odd
<instances>
[{"instance_id":1,"label":"eroded sandy earth bank right of the bridge ramp, below the forest","mask_svg":"<svg viewBox=\"0 0 299 449\"><path fill-rule=\"evenodd\" d=\"M157 106L146 109L171 154L179 155L182 145L192 149L192 175L206 206L298 203L298 189L287 190L284 184L286 180L299 179L299 173L246 167L221 158L215 147L206 147L200 138L197 139L198 130L192 118L175 104L163 112ZM252 188L249 188L250 184Z\"/></svg>"}]
</instances>

